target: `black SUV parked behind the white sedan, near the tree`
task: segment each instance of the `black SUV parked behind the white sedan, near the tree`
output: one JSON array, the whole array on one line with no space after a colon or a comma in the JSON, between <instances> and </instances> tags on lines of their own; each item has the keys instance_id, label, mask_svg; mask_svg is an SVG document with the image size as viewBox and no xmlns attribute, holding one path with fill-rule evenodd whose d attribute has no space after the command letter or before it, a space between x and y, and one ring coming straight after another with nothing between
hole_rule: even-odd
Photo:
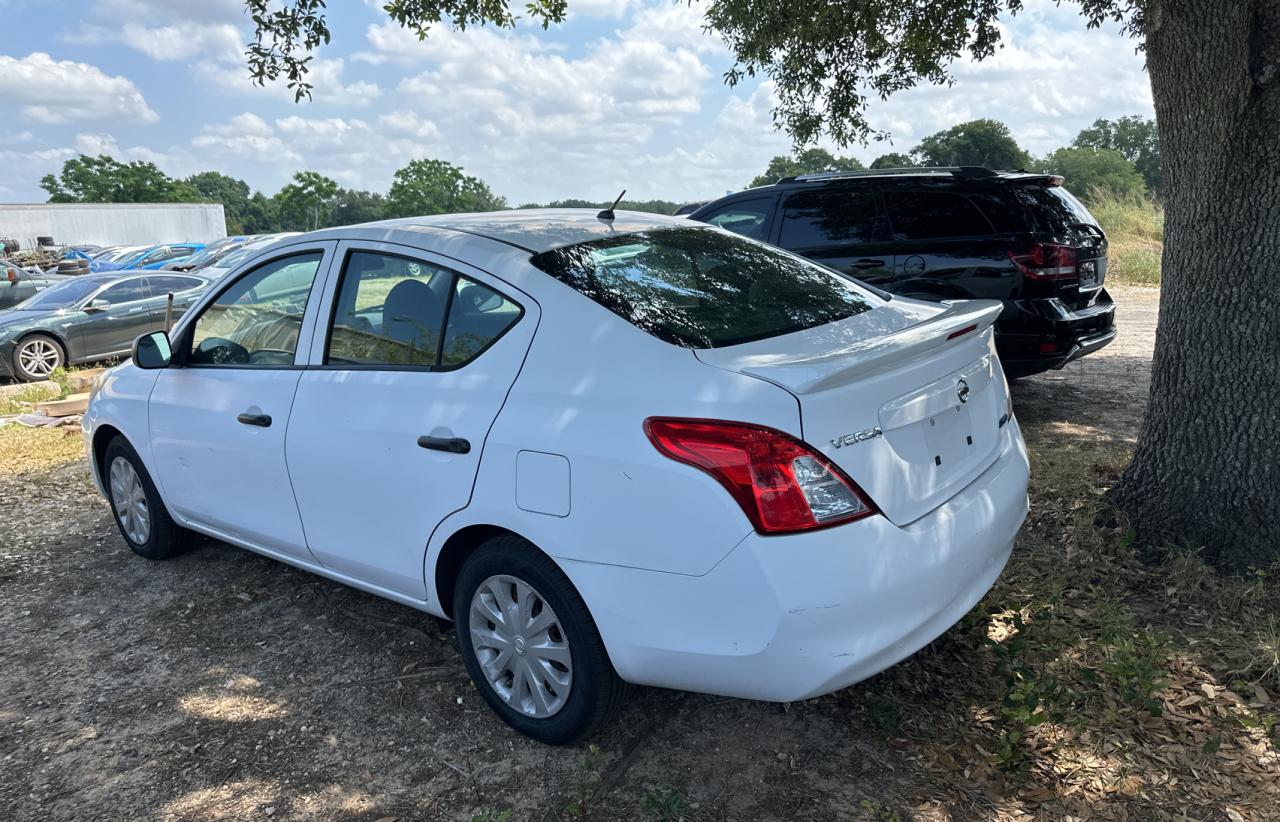
<instances>
[{"instance_id":1,"label":"black SUV parked behind the white sedan, near the tree","mask_svg":"<svg viewBox=\"0 0 1280 822\"><path fill-rule=\"evenodd\" d=\"M1001 300L1010 376L1060 369L1115 338L1107 238L1062 178L986 168L786 177L689 215L920 300Z\"/></svg>"}]
</instances>

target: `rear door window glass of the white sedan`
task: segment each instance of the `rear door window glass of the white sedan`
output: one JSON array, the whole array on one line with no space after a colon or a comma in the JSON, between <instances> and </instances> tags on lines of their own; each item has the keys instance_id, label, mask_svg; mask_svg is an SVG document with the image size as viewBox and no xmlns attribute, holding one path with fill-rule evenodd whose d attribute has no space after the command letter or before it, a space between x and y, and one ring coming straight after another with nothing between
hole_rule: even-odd
<instances>
[{"instance_id":1,"label":"rear door window glass of the white sedan","mask_svg":"<svg viewBox=\"0 0 1280 822\"><path fill-rule=\"evenodd\" d=\"M457 367L520 315L515 302L448 269L355 251L343 269L325 364Z\"/></svg>"}]
</instances>

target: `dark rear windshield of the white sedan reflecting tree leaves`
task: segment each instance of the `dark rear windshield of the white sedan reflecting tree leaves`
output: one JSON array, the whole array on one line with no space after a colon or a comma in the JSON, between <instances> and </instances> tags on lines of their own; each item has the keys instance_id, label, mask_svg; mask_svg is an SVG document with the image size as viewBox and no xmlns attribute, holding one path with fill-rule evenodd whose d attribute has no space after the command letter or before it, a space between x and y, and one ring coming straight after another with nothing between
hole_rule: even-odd
<instances>
[{"instance_id":1,"label":"dark rear windshield of the white sedan reflecting tree leaves","mask_svg":"<svg viewBox=\"0 0 1280 822\"><path fill-rule=\"evenodd\" d=\"M668 228L554 248L531 262L632 325L685 348L718 348L876 307L852 280L707 228Z\"/></svg>"}]
</instances>

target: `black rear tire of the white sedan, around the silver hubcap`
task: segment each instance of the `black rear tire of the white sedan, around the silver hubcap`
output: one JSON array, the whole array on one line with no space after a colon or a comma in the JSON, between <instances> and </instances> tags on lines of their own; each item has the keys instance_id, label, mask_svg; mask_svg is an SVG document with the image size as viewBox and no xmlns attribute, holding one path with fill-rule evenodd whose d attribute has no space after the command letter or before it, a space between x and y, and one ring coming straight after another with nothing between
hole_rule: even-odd
<instances>
[{"instance_id":1,"label":"black rear tire of the white sedan, around the silver hubcap","mask_svg":"<svg viewBox=\"0 0 1280 822\"><path fill-rule=\"evenodd\" d=\"M484 675L476 657L471 638L471 598L485 580L497 575L513 576L531 585L564 629L573 666L572 682L563 707L549 717L531 717L508 705ZM564 745L590 735L621 709L626 684L609 662L586 603L564 572L525 539L495 536L467 557L454 586L453 617L462 659L476 690L503 722L521 734L548 745Z\"/></svg>"}]
</instances>

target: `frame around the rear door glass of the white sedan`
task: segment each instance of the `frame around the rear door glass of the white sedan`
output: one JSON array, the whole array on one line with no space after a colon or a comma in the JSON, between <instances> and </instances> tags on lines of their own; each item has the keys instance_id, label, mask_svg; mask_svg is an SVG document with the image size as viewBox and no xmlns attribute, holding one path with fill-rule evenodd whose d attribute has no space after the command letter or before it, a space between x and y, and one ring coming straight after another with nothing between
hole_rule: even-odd
<instances>
[{"instance_id":1,"label":"frame around the rear door glass of the white sedan","mask_svg":"<svg viewBox=\"0 0 1280 822\"><path fill-rule=\"evenodd\" d=\"M328 277L324 283L323 298L316 301L316 314L319 320L311 332L311 344L305 360L305 365L308 369L316 370L346 370L346 371L424 371L424 373L448 373L457 371L466 367L474 362L480 355L492 348L498 341L507 335L513 328L518 326L525 318L530 314L530 307L534 307L534 319L538 318L538 302L530 297L524 291L516 288L511 283L506 282L500 277L495 277L489 271L477 269L474 265L463 262L462 260L456 260L447 255L428 251L425 248L419 248L416 246L404 246L401 243L384 242L378 239L342 239L335 243L337 251L332 257L329 264ZM419 262L426 262L434 265L435 268L444 269L453 274L453 282L449 286L449 296L447 300L444 310L444 321L440 326L440 342L439 346L443 347L444 337L448 330L449 323L449 310L453 307L453 294L457 289L457 278L462 277L470 279L485 288L493 289L502 294L508 301L513 302L520 309L520 316L516 321L508 325L502 334L498 334L488 346L481 348L475 353L467 362L456 366L421 366L421 365L351 365L351 364L338 364L328 365L325 364L325 355L329 347L329 330L333 323L334 311L338 306L339 289L342 288L343 269L346 265L346 259L357 251L364 251L367 254L385 254L397 257L407 257ZM317 280L319 282L319 280ZM315 292L312 292L314 294ZM301 347L300 347L301 352ZM443 359L443 351L436 352L436 362Z\"/></svg>"}]
</instances>

